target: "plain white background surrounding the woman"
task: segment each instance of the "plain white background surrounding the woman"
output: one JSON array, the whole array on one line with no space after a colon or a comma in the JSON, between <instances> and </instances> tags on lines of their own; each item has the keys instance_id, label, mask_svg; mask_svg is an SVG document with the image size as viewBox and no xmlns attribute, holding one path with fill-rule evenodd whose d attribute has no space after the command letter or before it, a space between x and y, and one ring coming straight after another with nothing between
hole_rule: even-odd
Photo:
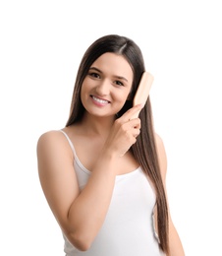
<instances>
[{"instance_id":1,"label":"plain white background surrounding the woman","mask_svg":"<svg viewBox=\"0 0 222 256\"><path fill-rule=\"evenodd\" d=\"M107 33L133 38L154 76L155 129L186 255L222 255L219 2L0 2L0 255L64 255L39 185L36 142L65 126L83 52Z\"/></svg>"}]
</instances>

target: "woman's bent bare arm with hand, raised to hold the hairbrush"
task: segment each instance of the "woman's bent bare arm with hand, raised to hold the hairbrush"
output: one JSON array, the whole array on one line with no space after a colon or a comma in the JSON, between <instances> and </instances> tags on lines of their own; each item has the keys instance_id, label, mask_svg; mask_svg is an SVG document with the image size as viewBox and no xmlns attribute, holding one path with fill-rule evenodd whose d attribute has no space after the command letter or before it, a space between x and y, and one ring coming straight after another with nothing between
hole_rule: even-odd
<instances>
[{"instance_id":1,"label":"woman's bent bare arm with hand, raised to hold the hairbrush","mask_svg":"<svg viewBox=\"0 0 222 256\"><path fill-rule=\"evenodd\" d=\"M136 106L116 120L82 192L64 135L52 131L38 140L38 172L45 197L65 235L80 250L90 247L104 222L115 183L115 166L139 135L139 118L130 120L138 109Z\"/></svg>"}]
</instances>

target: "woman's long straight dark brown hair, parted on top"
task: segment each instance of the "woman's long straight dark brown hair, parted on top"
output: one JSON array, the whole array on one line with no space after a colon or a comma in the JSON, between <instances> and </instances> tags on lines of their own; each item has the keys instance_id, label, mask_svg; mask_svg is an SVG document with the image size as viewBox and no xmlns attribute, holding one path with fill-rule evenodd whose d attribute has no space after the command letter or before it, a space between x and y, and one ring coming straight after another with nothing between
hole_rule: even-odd
<instances>
[{"instance_id":1,"label":"woman's long straight dark brown hair, parted on top","mask_svg":"<svg viewBox=\"0 0 222 256\"><path fill-rule=\"evenodd\" d=\"M103 53L113 52L122 55L131 65L134 72L134 81L132 86L132 96L137 92L139 80L145 71L144 61L139 46L130 38L118 34L108 34L95 40L85 51L80 64L74 93L71 103L70 116L66 126L70 126L83 117L84 107L81 101L81 88L83 80L92 63ZM127 100L119 116L122 115L133 105L132 100ZM169 252L168 242L168 209L163 182L160 173L160 167L155 146L155 135L152 122L152 110L150 99L148 97L145 106L139 113L141 120L141 129L137 143L132 146L132 152L138 160L143 171L148 175L154 185L156 192L157 205L157 223L160 247L165 252Z\"/></svg>"}]
</instances>

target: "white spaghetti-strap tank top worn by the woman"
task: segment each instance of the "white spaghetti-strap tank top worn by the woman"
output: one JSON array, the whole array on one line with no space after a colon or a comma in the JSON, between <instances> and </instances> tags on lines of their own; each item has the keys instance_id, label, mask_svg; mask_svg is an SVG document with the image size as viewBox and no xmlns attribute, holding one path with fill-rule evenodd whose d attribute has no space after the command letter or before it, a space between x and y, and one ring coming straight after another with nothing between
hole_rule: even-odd
<instances>
[{"instance_id":1,"label":"white spaghetti-strap tank top worn by the woman","mask_svg":"<svg viewBox=\"0 0 222 256\"><path fill-rule=\"evenodd\" d=\"M74 153L74 167L80 189L87 183L90 171ZM66 256L160 256L158 237L153 224L155 194L148 179L139 167L116 176L115 186L104 224L87 251L75 248L65 239Z\"/></svg>"}]
</instances>

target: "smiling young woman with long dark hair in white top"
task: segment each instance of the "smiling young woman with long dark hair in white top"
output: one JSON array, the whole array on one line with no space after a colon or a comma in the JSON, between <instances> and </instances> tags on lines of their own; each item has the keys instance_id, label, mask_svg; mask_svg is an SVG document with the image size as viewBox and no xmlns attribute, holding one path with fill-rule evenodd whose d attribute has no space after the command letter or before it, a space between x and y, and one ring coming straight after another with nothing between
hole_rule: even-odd
<instances>
[{"instance_id":1,"label":"smiling young woman with long dark hair in white top","mask_svg":"<svg viewBox=\"0 0 222 256\"><path fill-rule=\"evenodd\" d=\"M39 178L67 256L185 255L150 100L133 107L144 71L132 39L98 38L83 55L65 128L38 140Z\"/></svg>"}]
</instances>

